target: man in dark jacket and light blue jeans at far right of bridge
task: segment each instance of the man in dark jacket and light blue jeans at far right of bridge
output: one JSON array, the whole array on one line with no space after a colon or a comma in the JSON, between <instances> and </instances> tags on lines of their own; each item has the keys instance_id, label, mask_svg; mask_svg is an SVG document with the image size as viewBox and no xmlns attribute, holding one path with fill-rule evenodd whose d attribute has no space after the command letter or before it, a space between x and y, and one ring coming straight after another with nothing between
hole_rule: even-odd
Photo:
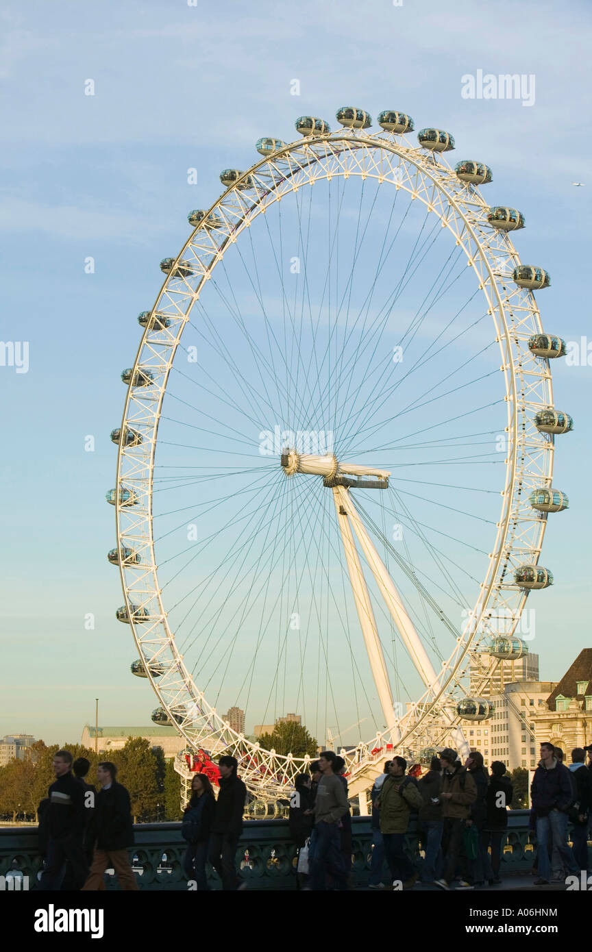
<instances>
[{"instance_id":1,"label":"man in dark jacket and light blue jeans at far right of bridge","mask_svg":"<svg viewBox=\"0 0 592 952\"><path fill-rule=\"evenodd\" d=\"M546 844L551 837L551 851L558 856L568 872L580 872L567 845L567 811L572 800L569 771L555 757L553 744L541 744L541 761L530 786L532 814L537 828L539 879L536 886L546 885L551 878Z\"/></svg>"}]
</instances>

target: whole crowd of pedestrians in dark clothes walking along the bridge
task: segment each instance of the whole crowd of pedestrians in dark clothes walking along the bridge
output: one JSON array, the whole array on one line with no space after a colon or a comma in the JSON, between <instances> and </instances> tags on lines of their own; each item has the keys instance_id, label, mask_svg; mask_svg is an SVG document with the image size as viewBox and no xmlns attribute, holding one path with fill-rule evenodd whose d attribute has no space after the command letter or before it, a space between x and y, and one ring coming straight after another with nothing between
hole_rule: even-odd
<instances>
[{"instance_id":1,"label":"whole crowd of pedestrians in dark clothes walking along the bridge","mask_svg":"<svg viewBox=\"0 0 592 952\"><path fill-rule=\"evenodd\" d=\"M588 751L589 764L585 764ZM541 745L541 761L531 784L530 824L536 830L535 885L565 882L586 873L588 823L592 815L592 745L576 747L571 764L562 763L561 748ZM207 864L224 890L246 888L236 868L243 832L247 787L234 757L218 761L216 797L207 773L191 782L182 835L187 842L184 870L192 888L207 890ZM117 781L117 767L97 766L100 789L87 783L89 761L72 763L68 750L53 758L55 782L39 804L39 847L44 867L40 890L102 890L112 868L125 890L137 890L129 862L133 824L129 794ZM370 889L410 889L422 883L448 890L501 883L500 865L513 786L506 765L471 751L464 764L445 747L423 772L407 768L404 757L385 761L370 793ZM417 820L424 862L418 869L406 838L411 817ZM351 809L346 766L332 750L299 774L289 805L290 837L297 847L298 888L347 890L351 883ZM572 845L567 842L571 824Z\"/></svg>"}]
</instances>

